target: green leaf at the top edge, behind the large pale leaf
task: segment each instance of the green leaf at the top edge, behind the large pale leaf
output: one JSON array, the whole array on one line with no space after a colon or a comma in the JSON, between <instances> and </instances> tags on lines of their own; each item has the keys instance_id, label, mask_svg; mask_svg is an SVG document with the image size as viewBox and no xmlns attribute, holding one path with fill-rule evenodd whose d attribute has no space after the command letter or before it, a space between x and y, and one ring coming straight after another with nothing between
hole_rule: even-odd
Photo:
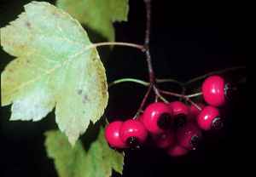
<instances>
[{"instance_id":1,"label":"green leaf at the top edge, behind the large pale leaf","mask_svg":"<svg viewBox=\"0 0 256 177\"><path fill-rule=\"evenodd\" d=\"M108 41L114 41L113 22L126 21L129 11L129 0L58 0L56 5Z\"/></svg>"}]
</instances>

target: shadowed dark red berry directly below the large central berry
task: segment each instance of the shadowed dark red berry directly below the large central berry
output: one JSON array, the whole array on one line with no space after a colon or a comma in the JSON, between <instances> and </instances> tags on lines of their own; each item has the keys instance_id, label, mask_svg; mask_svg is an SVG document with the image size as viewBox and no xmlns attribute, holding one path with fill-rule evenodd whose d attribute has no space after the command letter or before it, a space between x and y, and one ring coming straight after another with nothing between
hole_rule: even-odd
<instances>
[{"instance_id":1,"label":"shadowed dark red berry directly below the large central berry","mask_svg":"<svg viewBox=\"0 0 256 177\"><path fill-rule=\"evenodd\" d=\"M172 146L175 142L175 136L173 132L166 131L163 134L153 134L152 138L156 146L160 148L167 148Z\"/></svg>"}]
</instances>

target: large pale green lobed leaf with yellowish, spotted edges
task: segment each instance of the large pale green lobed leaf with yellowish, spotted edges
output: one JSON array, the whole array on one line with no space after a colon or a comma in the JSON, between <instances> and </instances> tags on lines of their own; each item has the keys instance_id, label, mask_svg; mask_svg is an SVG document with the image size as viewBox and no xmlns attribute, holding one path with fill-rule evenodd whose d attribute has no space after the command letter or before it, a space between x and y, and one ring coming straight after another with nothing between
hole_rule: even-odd
<instances>
[{"instance_id":1,"label":"large pale green lobed leaf with yellowish, spotted edges","mask_svg":"<svg viewBox=\"0 0 256 177\"><path fill-rule=\"evenodd\" d=\"M32 2L1 28L1 45L14 55L1 73L2 105L10 120L38 121L55 107L56 123L74 144L108 103L102 61L77 20L49 3Z\"/></svg>"}]
</instances>

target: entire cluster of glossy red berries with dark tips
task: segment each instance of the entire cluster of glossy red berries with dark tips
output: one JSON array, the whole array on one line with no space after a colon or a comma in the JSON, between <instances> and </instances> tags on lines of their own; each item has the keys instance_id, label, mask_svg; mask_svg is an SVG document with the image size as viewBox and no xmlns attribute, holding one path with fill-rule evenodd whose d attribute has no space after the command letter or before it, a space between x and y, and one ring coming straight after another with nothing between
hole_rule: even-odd
<instances>
[{"instance_id":1,"label":"entire cluster of glossy red berries with dark tips","mask_svg":"<svg viewBox=\"0 0 256 177\"><path fill-rule=\"evenodd\" d=\"M223 127L218 106L230 96L230 84L219 76L207 77L202 84L206 104L185 105L181 101L154 102L136 119L114 121L105 129L109 146L117 149L136 148L150 136L155 146L163 148L172 157L195 150L202 138L202 130Z\"/></svg>"}]
</instances>

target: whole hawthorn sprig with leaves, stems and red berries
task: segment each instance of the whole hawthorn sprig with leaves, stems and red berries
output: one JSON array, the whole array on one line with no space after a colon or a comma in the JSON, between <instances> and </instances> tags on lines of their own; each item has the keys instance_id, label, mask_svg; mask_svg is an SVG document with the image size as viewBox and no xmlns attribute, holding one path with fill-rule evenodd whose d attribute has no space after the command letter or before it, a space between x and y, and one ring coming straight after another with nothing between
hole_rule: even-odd
<instances>
[{"instance_id":1,"label":"whole hawthorn sprig with leaves, stems and red berries","mask_svg":"<svg viewBox=\"0 0 256 177\"><path fill-rule=\"evenodd\" d=\"M170 157L182 156L195 149L201 131L223 126L217 107L236 87L212 75L245 66L213 71L186 83L156 78L149 43L151 0L144 3L143 44L115 42L113 22L127 20L128 0L58 0L55 5L32 2L16 20L1 28L1 46L15 56L1 73L1 104L11 105L10 121L40 121L55 111L59 130L45 133L45 147L60 176L107 177L113 170L122 174L124 152L116 149L143 146L148 137ZM81 24L107 42L91 43ZM140 50L147 62L148 81L121 78L108 83L97 51L101 46ZM201 91L185 94L189 84L205 78ZM127 82L145 86L146 94L131 119L108 123L103 116L108 88ZM160 89L160 83L177 84L183 92ZM154 103L146 106L150 94ZM179 100L170 103L167 96ZM193 100L201 96L209 106ZM89 128L90 123L94 128ZM88 140L90 146L84 148L79 136L89 131L96 140Z\"/></svg>"}]
</instances>

